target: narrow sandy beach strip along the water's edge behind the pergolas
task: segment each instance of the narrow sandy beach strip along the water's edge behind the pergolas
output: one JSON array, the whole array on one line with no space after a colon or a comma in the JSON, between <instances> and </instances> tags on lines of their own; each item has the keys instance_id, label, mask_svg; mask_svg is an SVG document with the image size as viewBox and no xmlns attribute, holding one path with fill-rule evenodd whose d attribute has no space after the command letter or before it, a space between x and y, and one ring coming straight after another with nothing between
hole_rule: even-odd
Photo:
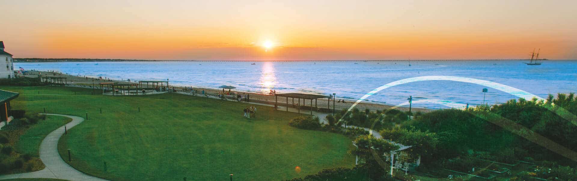
<instances>
[{"instance_id":1,"label":"narrow sandy beach strip along the water's edge behind the pergolas","mask_svg":"<svg viewBox=\"0 0 577 181\"><path fill-rule=\"evenodd\" d=\"M33 71L33 70L29 70L28 71L28 75L25 75L25 77L38 77L38 75L42 76L42 77L66 77L66 82L68 84L76 84L76 85L89 85L91 86L92 83L95 84L96 87L99 87L98 84L100 84L101 82L127 82L128 80L110 80L108 81L107 79L105 80L104 78L107 77L102 77L102 80L99 77L91 77L91 76L73 76L70 74L65 74L65 73L60 73L60 72L50 72L50 71ZM94 81L94 82L92 82ZM170 84L169 82L169 86L172 88L173 86ZM218 95L220 92L222 92L222 89L219 88L203 88L203 87L196 87L194 85L187 85L187 87L191 87L193 89L197 89L198 91L205 91L209 94L212 95ZM176 85L174 86L174 88L177 91L183 91L185 89L185 86L179 86ZM228 89L226 89L225 91L228 91ZM259 103L265 103L265 104L271 104L274 105L275 104L275 96L274 95L268 95L268 94L261 94L261 93L254 93L254 92L243 92L242 90L237 90L237 89L232 89L232 92L236 92L236 93L240 93L241 95L249 95L250 97L250 101L254 101L254 102L259 102ZM188 92L188 91L187 91ZM290 92L277 92L277 93L290 93ZM286 98L285 97L279 97L278 99L278 103L279 105L283 105L286 104ZM339 103L337 102L338 100L345 100L344 103ZM343 110L343 109L347 109L350 108L351 105L353 105L353 103L356 100L346 100L343 98L339 98L338 96L336 97L336 101L335 101L335 109L336 110ZM298 99L294 99L294 103L297 103ZM293 103L293 99L288 99L288 104L292 104ZM301 104L302 104L302 100L301 100ZM313 101L313 105L314 105L314 101ZM333 101L331 100L331 103L328 103L327 99L318 99L316 101L317 107L320 108L329 108L332 109L333 107ZM310 105L310 100L305 100L305 105ZM327 106L329 105L329 106ZM358 108L359 110L365 110L366 108L368 108L369 110L372 111L376 111L376 110L387 110L388 108L391 108L393 105L386 105L386 104L375 104L375 103L365 103L365 102L361 102L359 104L356 105L356 108ZM398 107L396 108L397 110L401 110L401 111L409 111L409 107ZM411 111L414 112L429 112L432 111L431 109L426 109L426 108L415 108L413 107Z\"/></svg>"}]
</instances>

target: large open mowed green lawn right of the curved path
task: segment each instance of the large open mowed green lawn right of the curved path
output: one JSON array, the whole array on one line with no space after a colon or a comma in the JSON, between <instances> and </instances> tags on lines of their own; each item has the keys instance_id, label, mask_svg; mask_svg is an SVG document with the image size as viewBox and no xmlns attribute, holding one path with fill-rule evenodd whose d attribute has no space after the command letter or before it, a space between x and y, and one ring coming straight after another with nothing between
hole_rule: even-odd
<instances>
[{"instance_id":1,"label":"large open mowed green lawn right of the curved path","mask_svg":"<svg viewBox=\"0 0 577 181\"><path fill-rule=\"evenodd\" d=\"M256 105L257 118L247 120L242 108L249 104L177 93L103 96L55 86L0 89L30 92L12 101L14 109L88 113L88 120L63 135L59 150L68 160L70 149L74 168L101 178L228 180L234 174L235 180L282 180L354 166L354 156L347 153L351 139L295 129L287 124L299 114L267 106Z\"/></svg>"}]
</instances>

